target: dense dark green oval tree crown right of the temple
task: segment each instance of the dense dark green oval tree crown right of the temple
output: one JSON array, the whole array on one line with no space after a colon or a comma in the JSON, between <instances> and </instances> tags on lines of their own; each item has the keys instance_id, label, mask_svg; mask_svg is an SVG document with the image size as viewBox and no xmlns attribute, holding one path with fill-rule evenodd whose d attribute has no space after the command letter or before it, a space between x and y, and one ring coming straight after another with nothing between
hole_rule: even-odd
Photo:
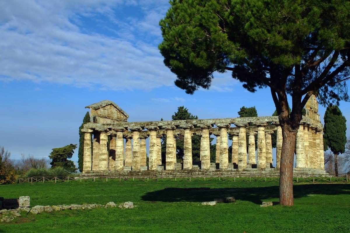
<instances>
[{"instance_id":1,"label":"dense dark green oval tree crown right of the temple","mask_svg":"<svg viewBox=\"0 0 350 233\"><path fill-rule=\"evenodd\" d=\"M333 154L345 152L346 119L336 105L329 105L324 113L323 141ZM327 147L325 149L327 150Z\"/></svg>"}]
</instances>

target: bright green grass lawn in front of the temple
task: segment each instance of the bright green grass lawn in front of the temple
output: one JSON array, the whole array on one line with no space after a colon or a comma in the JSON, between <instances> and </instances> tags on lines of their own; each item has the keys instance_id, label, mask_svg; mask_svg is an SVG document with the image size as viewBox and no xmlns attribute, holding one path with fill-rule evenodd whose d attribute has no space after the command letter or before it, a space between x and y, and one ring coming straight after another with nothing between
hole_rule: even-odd
<instances>
[{"instance_id":1,"label":"bright green grass lawn in front of the temple","mask_svg":"<svg viewBox=\"0 0 350 233\"><path fill-rule=\"evenodd\" d=\"M277 182L229 181L83 181L1 185L0 196L30 196L31 206L117 205L132 210L97 208L28 214L0 232L350 232L350 184L294 185L294 206L260 207L278 201ZM222 196L236 203L201 205ZM23 214L24 215L24 214Z\"/></svg>"}]
</instances>

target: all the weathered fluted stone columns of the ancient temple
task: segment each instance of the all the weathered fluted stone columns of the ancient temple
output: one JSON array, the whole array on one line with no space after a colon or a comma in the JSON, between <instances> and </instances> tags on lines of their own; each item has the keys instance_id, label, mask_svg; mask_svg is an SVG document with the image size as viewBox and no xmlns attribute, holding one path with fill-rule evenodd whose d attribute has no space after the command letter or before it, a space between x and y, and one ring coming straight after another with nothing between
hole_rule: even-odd
<instances>
[{"instance_id":1,"label":"all the weathered fluted stone columns of the ancient temple","mask_svg":"<svg viewBox=\"0 0 350 233\"><path fill-rule=\"evenodd\" d=\"M200 160L201 169L210 169L210 139L209 129L211 124L198 125L201 129ZM229 167L228 160L228 128L229 123L217 124L219 132L214 133L217 137L216 163L219 169ZM258 132L246 131L248 124L237 124L239 132L232 135L232 163L238 165L238 169L247 167L248 164L257 164L257 168L269 168L272 164L272 140L273 131L265 130L266 123L257 124ZM277 127L276 140L276 168L279 168L282 148L282 129ZM149 131L149 160L148 169L156 170L161 165L161 134L157 134L158 126L146 126ZM192 132L193 125L182 126L184 130L184 156L183 169L192 169ZM176 140L174 125L163 126L166 130L166 169L174 170L176 165ZM84 159L83 170L122 170L124 166L140 170L146 166L146 136L140 136L141 127L130 128L132 136L126 136L125 153L123 127L98 128L96 131L82 129L84 136ZM93 154L91 155L91 133L93 133ZM248 135L248 142L246 140ZM255 135L257 135L257 160L255 159ZM111 136L110 151L107 151L107 138ZM131 146L133 139L133 146ZM247 150L248 143L248 150ZM322 148L321 148L322 147ZM247 157L248 155L248 157ZM311 128L309 124L301 124L296 138L296 167L324 169L323 166L323 137L322 129ZM247 162L248 159L248 162Z\"/></svg>"}]
</instances>

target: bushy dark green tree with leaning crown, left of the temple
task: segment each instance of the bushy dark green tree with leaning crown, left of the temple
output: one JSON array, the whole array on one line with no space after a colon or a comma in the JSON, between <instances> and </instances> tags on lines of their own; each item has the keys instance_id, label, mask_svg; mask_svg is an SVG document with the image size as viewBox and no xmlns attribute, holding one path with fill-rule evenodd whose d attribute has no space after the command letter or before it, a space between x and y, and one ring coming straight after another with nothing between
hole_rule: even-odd
<instances>
[{"instance_id":1,"label":"bushy dark green tree with leaning crown, left of the temple","mask_svg":"<svg viewBox=\"0 0 350 233\"><path fill-rule=\"evenodd\" d=\"M69 144L64 147L53 148L49 158L51 167L63 167L68 172L75 172L77 168L74 165L72 158L74 150L77 148L76 144Z\"/></svg>"}]
</instances>

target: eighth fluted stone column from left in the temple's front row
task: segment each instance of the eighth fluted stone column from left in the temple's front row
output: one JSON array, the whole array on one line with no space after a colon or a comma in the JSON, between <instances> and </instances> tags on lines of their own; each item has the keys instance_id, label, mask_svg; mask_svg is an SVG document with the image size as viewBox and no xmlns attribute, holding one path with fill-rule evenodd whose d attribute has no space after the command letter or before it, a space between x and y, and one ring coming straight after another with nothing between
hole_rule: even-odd
<instances>
[{"instance_id":1,"label":"eighth fluted stone column from left in the temple's front row","mask_svg":"<svg viewBox=\"0 0 350 233\"><path fill-rule=\"evenodd\" d=\"M198 125L202 129L201 137L201 169L209 170L210 169L210 141L209 141L209 129L211 128L210 124L201 124Z\"/></svg>"}]
</instances>

